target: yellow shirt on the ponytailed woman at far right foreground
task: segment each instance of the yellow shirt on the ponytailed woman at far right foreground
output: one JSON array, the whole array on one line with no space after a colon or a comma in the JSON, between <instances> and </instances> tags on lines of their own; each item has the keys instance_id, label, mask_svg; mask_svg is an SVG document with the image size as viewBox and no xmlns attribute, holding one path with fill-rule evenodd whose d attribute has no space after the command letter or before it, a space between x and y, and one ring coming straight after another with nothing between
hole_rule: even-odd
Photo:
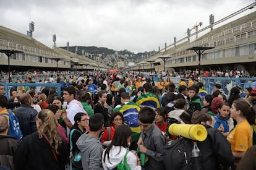
<instances>
[{"instance_id":1,"label":"yellow shirt on the ponytailed woman at far right foreground","mask_svg":"<svg viewBox=\"0 0 256 170\"><path fill-rule=\"evenodd\" d=\"M252 126L247 120L237 124L227 137L231 144L231 151L247 151L249 147L252 147L252 133Z\"/></svg>"}]
</instances>

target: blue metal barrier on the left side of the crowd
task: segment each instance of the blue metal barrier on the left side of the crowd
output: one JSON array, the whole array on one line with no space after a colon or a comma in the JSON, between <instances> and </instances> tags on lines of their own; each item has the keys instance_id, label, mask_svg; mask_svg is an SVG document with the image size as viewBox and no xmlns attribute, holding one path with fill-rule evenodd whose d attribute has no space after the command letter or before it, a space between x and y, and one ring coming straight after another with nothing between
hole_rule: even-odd
<instances>
[{"instance_id":1,"label":"blue metal barrier on the left side of the crowd","mask_svg":"<svg viewBox=\"0 0 256 170\"><path fill-rule=\"evenodd\" d=\"M35 87L35 90L39 93L41 87L51 87L56 88L56 93L58 95L61 95L61 85L59 83L1 83L1 85L4 85L6 90L6 96L9 98L10 90L12 87ZM27 91L25 91L26 93Z\"/></svg>"}]
</instances>

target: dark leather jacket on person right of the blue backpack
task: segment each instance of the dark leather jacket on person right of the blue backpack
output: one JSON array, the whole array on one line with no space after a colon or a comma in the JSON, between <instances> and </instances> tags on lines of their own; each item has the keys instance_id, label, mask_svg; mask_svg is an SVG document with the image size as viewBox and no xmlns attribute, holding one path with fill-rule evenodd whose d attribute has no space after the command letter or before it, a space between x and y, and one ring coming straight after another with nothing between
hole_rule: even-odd
<instances>
[{"instance_id":1,"label":"dark leather jacket on person right of the blue backpack","mask_svg":"<svg viewBox=\"0 0 256 170\"><path fill-rule=\"evenodd\" d=\"M34 108L27 104L21 104L20 107L14 109L13 112L19 119L20 130L22 131L23 137L36 131L37 111Z\"/></svg>"}]
</instances>

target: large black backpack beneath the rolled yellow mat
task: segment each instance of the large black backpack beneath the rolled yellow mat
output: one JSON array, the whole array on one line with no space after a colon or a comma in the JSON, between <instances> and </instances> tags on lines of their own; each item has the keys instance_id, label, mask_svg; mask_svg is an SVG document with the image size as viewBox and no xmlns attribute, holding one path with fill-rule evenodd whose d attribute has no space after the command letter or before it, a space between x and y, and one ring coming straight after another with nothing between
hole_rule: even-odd
<instances>
[{"instance_id":1,"label":"large black backpack beneath the rolled yellow mat","mask_svg":"<svg viewBox=\"0 0 256 170\"><path fill-rule=\"evenodd\" d=\"M164 151L164 167L169 170L192 170L192 148L194 140L177 138L166 143Z\"/></svg>"}]
</instances>

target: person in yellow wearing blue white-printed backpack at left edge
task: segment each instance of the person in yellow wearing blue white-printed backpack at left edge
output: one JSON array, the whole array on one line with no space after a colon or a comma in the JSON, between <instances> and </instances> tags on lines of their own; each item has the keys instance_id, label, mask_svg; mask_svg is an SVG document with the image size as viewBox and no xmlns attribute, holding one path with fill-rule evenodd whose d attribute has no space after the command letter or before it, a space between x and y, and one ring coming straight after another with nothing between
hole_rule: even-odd
<instances>
[{"instance_id":1,"label":"person in yellow wearing blue white-printed backpack at left edge","mask_svg":"<svg viewBox=\"0 0 256 170\"><path fill-rule=\"evenodd\" d=\"M9 122L9 128L4 131L5 135L17 138L17 140L22 140L22 132L20 130L19 119L12 113L11 110L6 109L8 100L4 95L0 96L0 114L6 116Z\"/></svg>"}]
</instances>

